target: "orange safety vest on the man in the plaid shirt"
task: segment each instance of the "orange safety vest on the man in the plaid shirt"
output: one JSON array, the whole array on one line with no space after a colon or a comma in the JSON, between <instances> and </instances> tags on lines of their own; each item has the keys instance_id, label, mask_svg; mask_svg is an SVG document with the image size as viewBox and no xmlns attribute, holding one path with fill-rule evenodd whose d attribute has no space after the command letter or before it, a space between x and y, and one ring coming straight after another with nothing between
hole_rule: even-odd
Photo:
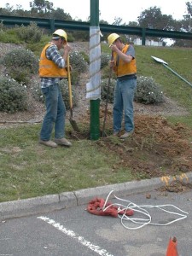
<instances>
[{"instance_id":1,"label":"orange safety vest on the man in the plaid shirt","mask_svg":"<svg viewBox=\"0 0 192 256\"><path fill-rule=\"evenodd\" d=\"M46 49L51 44L46 44L42 50L40 61L39 61L39 76L41 78L67 78L67 70L65 68L58 67L54 61L49 61L46 57Z\"/></svg>"}]
</instances>

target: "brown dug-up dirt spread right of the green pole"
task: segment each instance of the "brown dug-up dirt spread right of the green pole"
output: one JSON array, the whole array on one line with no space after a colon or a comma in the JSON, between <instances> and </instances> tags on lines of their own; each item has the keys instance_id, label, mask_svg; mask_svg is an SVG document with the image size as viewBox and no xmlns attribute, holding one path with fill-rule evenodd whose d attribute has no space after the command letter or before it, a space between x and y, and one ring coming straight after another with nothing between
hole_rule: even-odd
<instances>
[{"instance_id":1,"label":"brown dug-up dirt spread right of the green pole","mask_svg":"<svg viewBox=\"0 0 192 256\"><path fill-rule=\"evenodd\" d=\"M112 129L112 117L107 129ZM123 133L123 131L122 131ZM102 137L98 145L116 156L120 166L131 169L139 178L175 176L192 170L192 131L183 124L172 125L160 115L136 114L135 131L125 140Z\"/></svg>"}]
</instances>

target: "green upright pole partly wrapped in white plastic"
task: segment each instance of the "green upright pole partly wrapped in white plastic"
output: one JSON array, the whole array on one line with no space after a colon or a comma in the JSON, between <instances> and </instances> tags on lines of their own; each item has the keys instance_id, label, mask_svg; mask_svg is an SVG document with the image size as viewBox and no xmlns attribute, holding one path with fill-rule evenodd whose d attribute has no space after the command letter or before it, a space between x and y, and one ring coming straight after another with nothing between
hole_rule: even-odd
<instances>
[{"instance_id":1,"label":"green upright pole partly wrapped in white plastic","mask_svg":"<svg viewBox=\"0 0 192 256\"><path fill-rule=\"evenodd\" d=\"M100 137L99 108L101 99L101 45L99 28L99 0L90 0L90 81L86 84L86 98L90 99L90 139Z\"/></svg>"}]
</instances>

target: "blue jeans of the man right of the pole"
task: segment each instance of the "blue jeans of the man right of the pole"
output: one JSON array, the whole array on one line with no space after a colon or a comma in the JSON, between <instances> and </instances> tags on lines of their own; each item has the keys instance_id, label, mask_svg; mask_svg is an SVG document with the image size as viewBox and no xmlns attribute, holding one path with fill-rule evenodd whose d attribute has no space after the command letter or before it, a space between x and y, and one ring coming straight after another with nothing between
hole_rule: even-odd
<instances>
[{"instance_id":1,"label":"blue jeans of the man right of the pole","mask_svg":"<svg viewBox=\"0 0 192 256\"><path fill-rule=\"evenodd\" d=\"M125 131L134 130L133 98L137 86L137 79L117 79L114 89L113 102L113 132L121 130L123 111L125 118Z\"/></svg>"}]
</instances>

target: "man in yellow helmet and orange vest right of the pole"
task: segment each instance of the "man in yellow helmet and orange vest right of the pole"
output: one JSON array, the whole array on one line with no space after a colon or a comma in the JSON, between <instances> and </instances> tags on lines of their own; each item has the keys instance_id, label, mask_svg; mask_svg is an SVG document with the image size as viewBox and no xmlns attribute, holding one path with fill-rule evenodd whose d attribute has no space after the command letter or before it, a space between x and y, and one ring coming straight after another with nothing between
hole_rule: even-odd
<instances>
[{"instance_id":1,"label":"man in yellow helmet and orange vest right of the pole","mask_svg":"<svg viewBox=\"0 0 192 256\"><path fill-rule=\"evenodd\" d=\"M137 87L137 65L135 49L131 44L124 44L119 34L108 36L108 45L113 53L109 67L116 74L113 98L113 135L121 139L129 137L134 131L133 99ZM122 121L124 119L124 133Z\"/></svg>"}]
</instances>

